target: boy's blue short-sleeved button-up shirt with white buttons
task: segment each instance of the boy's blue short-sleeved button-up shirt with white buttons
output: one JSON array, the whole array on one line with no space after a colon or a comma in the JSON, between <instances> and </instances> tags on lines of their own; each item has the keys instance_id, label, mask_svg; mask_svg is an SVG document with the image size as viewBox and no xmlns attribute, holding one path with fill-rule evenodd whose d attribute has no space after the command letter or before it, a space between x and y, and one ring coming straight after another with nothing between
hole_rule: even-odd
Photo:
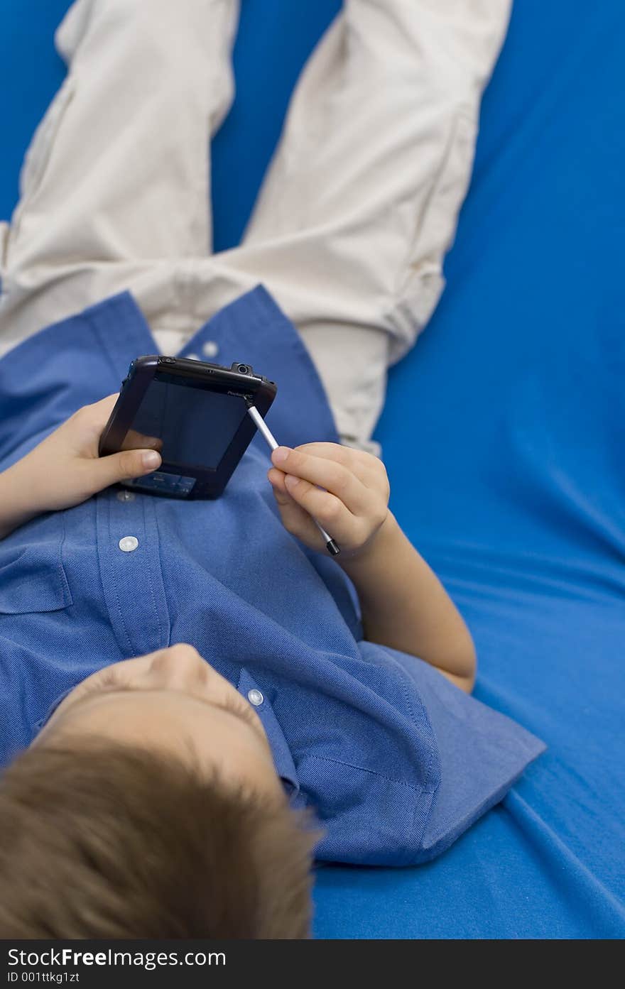
<instances>
[{"instance_id":1,"label":"boy's blue short-sleeved button-up shirt with white buttons","mask_svg":"<svg viewBox=\"0 0 625 989\"><path fill-rule=\"evenodd\" d=\"M244 361L277 382L268 424L279 442L338 440L308 351L262 288L211 319L182 356L208 341L221 363ZM0 470L156 352L129 294L10 351L0 361ZM325 830L319 858L431 858L544 746L427 664L363 640L353 586L284 529L268 466L256 436L218 500L110 489L0 542L0 757L28 746L85 676L188 642L245 696L260 691L256 710L290 799ZM128 535L138 540L131 553L119 546Z\"/></svg>"}]
</instances>

